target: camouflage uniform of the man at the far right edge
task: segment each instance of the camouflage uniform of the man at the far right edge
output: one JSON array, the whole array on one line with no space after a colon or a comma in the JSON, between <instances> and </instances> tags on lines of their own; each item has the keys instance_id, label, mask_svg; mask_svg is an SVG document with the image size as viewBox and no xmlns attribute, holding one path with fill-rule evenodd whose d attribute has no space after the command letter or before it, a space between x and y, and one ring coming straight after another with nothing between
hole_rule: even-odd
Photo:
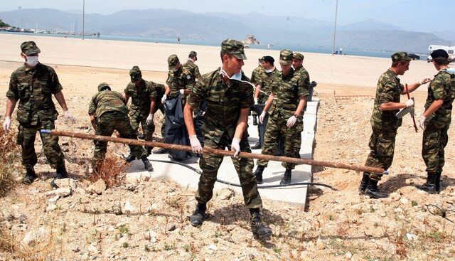
<instances>
[{"instance_id":1,"label":"camouflage uniform of the man at the far right edge","mask_svg":"<svg viewBox=\"0 0 455 261\"><path fill-rule=\"evenodd\" d=\"M444 147L449 141L447 131L451 122L454 98L455 75L447 73L446 70L440 70L428 86L427 102L425 102L425 110L428 110L434 100L444 100L443 105L427 118L427 127L424 129L422 156L428 173L442 172Z\"/></svg>"}]
</instances>

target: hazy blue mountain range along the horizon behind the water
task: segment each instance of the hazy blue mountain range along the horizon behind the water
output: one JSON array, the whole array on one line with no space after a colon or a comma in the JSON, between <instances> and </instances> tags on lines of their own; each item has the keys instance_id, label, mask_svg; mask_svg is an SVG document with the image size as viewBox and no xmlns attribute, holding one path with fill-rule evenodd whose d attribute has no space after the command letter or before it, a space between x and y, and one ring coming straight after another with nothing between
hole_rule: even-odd
<instances>
[{"instance_id":1,"label":"hazy blue mountain range along the horizon behind the water","mask_svg":"<svg viewBox=\"0 0 455 261\"><path fill-rule=\"evenodd\" d=\"M19 9L0 12L12 26L45 30L82 31L82 12L55 9ZM242 40L252 34L260 43L331 48L333 22L259 13L196 14L177 9L122 10L114 14L85 14L85 32L104 36L186 38L198 41ZM430 44L450 46L454 31L406 31L373 19L338 25L336 46L358 50L407 50L427 53Z\"/></svg>"}]
</instances>

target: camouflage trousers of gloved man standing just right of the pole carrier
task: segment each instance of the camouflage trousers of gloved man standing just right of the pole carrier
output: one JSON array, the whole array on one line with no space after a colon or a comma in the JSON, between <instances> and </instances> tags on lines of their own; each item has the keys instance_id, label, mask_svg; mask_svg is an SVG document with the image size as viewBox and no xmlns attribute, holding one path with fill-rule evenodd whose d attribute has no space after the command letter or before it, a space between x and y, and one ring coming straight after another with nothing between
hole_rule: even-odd
<instances>
[{"instance_id":1,"label":"camouflage trousers of gloved man standing just right of the pole carrier","mask_svg":"<svg viewBox=\"0 0 455 261\"><path fill-rule=\"evenodd\" d=\"M273 155L274 148L277 147L279 140L284 137L284 156L300 158L300 154L296 153L296 147L299 147L300 151L300 144L296 144L295 142L298 137L301 137L300 128L297 127L297 123L291 128L288 128L286 124L287 119L286 117L282 117L281 113L275 113L269 116L261 154ZM301 126L303 127L303 124ZM257 166L267 167L268 163L269 161L264 159L257 160ZM286 169L295 169L296 164L283 162L282 166Z\"/></svg>"}]
</instances>

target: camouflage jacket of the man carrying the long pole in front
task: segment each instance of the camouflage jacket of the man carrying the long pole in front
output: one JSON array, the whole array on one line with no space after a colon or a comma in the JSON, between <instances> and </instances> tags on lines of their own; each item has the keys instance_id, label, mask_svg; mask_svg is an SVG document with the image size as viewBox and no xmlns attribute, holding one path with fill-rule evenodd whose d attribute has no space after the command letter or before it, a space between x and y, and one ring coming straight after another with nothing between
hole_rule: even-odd
<instances>
[{"instance_id":1,"label":"camouflage jacket of the man carrying the long pole in front","mask_svg":"<svg viewBox=\"0 0 455 261\"><path fill-rule=\"evenodd\" d=\"M250 80L244 74L242 80L248 82L231 80L229 84L225 84L218 68L203 75L201 80L196 82L187 102L193 108L198 108L203 100L207 102L205 122L202 126L205 139L218 143L225 132L228 132L231 139L234 137L240 110L250 108L254 104ZM242 139L247 137L248 132L245 129Z\"/></svg>"}]
</instances>

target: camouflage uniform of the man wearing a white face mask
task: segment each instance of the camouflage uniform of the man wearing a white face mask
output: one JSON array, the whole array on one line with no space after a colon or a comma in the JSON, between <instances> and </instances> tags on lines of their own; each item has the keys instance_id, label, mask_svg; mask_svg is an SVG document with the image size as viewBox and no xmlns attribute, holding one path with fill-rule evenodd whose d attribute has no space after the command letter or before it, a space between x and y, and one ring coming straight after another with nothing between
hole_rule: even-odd
<instances>
[{"instance_id":1,"label":"camouflage uniform of the man wearing a white face mask","mask_svg":"<svg viewBox=\"0 0 455 261\"><path fill-rule=\"evenodd\" d=\"M17 144L22 148L22 165L32 168L37 162L35 153L36 132L40 129L55 129L58 112L52 95L62 90L53 68L38 63L34 68L22 65L11 74L6 97L19 102ZM65 166L65 157L58 145L58 136L40 134L43 150L50 166L58 169Z\"/></svg>"}]
</instances>

